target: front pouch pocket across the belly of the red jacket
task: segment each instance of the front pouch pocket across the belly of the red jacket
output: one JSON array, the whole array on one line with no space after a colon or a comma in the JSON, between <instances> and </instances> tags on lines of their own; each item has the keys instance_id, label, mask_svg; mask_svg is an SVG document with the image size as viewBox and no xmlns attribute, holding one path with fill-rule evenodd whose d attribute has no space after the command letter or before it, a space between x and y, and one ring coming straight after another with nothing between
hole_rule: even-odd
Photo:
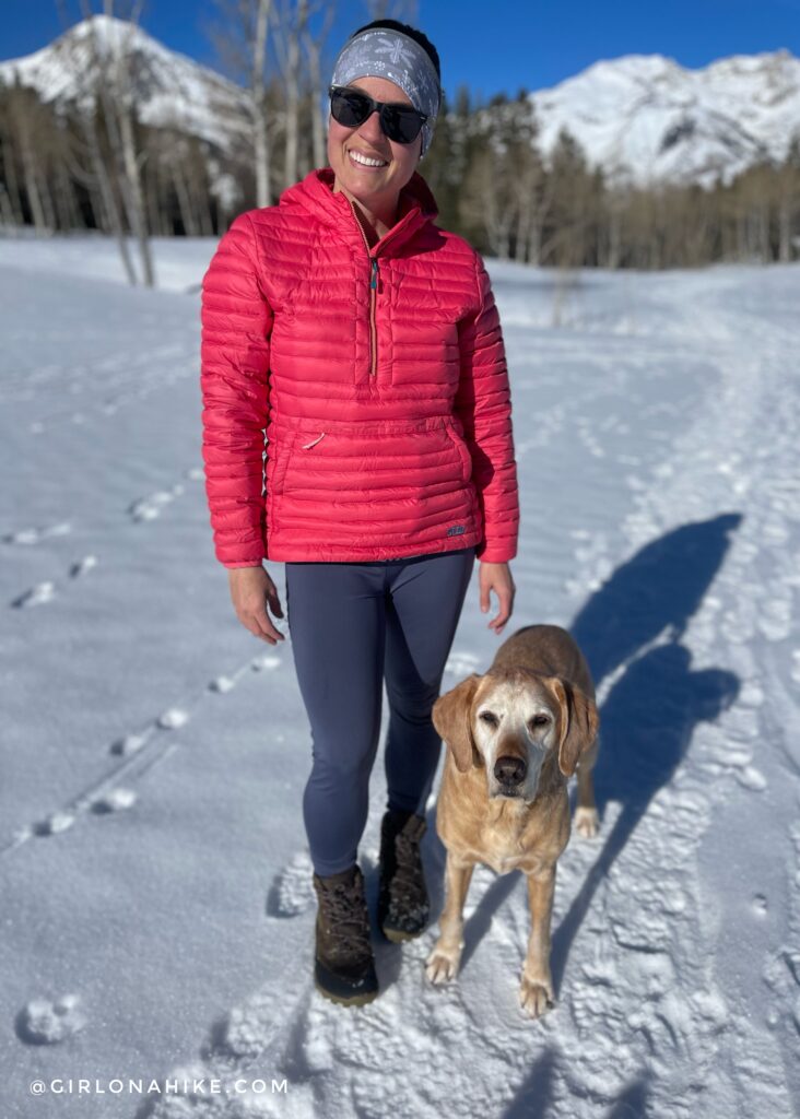
<instances>
[{"instance_id":1,"label":"front pouch pocket across the belly of the red jacket","mask_svg":"<svg viewBox=\"0 0 800 1119\"><path fill-rule=\"evenodd\" d=\"M472 461L451 416L365 423L303 422L279 446L274 492L292 505L347 505L370 515L382 501L425 502L463 490Z\"/></svg>"}]
</instances>

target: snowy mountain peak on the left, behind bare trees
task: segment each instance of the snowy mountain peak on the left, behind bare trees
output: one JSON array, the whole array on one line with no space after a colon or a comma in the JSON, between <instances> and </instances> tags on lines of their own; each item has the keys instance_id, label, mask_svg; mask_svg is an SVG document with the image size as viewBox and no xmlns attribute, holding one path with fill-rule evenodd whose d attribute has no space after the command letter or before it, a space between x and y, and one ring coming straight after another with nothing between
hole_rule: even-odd
<instances>
[{"instance_id":1,"label":"snowy mountain peak on the left, behind bare trees","mask_svg":"<svg viewBox=\"0 0 800 1119\"><path fill-rule=\"evenodd\" d=\"M244 91L185 55L168 50L140 27L106 16L76 23L50 46L0 63L0 81L38 91L45 102L82 102L96 88L97 56L130 59L138 114L144 124L172 126L219 148L246 128Z\"/></svg>"}]
</instances>

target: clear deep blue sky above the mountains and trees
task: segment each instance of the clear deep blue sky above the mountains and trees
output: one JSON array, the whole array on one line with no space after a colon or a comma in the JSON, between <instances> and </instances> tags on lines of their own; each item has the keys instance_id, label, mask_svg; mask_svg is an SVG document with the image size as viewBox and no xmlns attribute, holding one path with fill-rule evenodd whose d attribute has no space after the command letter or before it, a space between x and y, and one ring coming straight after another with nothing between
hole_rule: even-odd
<instances>
[{"instance_id":1,"label":"clear deep blue sky above the mountains and trees","mask_svg":"<svg viewBox=\"0 0 800 1119\"><path fill-rule=\"evenodd\" d=\"M54 39L65 27L59 7L74 22L77 0L0 0L0 58ZM368 20L360 0L339 0L337 10L331 51ZM780 47L800 56L800 0L420 0L417 10L450 94L461 83L484 96L539 90L625 54L663 54L689 67ZM203 29L214 13L213 0L145 0L142 26L173 50L214 65Z\"/></svg>"}]
</instances>

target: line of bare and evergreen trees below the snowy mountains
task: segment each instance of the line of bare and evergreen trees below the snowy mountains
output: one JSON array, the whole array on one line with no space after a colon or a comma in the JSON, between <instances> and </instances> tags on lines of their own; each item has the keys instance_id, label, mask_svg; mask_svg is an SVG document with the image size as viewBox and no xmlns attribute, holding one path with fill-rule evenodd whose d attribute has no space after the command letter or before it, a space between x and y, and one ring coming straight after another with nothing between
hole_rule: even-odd
<instances>
[{"instance_id":1,"label":"line of bare and evergreen trees below the snowy mountains","mask_svg":"<svg viewBox=\"0 0 800 1119\"><path fill-rule=\"evenodd\" d=\"M83 54L63 59L77 91L68 104L44 103L18 82L0 85L2 226L100 231L116 238L131 282L152 284L152 235L218 235L236 214L276 201L324 166L333 6L217 3L209 35L242 86L241 119L224 141L144 124L134 51L125 36L109 49L91 30ZM104 6L114 13L113 0ZM385 4L368 8L367 18L386 13ZM389 13L413 19L413 6ZM135 20L130 6L125 15ZM800 256L800 132L782 161L732 181L643 187L625 169L592 167L567 130L544 153L525 91L483 102L461 88L452 104L445 98L420 170L441 224L502 260L665 269Z\"/></svg>"}]
</instances>

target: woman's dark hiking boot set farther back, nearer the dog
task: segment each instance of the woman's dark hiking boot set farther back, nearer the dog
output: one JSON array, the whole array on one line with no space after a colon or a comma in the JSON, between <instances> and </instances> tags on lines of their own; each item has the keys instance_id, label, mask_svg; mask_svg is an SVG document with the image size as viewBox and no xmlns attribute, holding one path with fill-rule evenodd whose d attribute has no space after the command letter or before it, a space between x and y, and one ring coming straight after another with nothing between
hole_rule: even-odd
<instances>
[{"instance_id":1,"label":"woman's dark hiking boot set farther back, nearer the dog","mask_svg":"<svg viewBox=\"0 0 800 1119\"><path fill-rule=\"evenodd\" d=\"M431 903L420 855L426 830L423 816L394 808L380 822L378 924L387 940L412 940L427 924Z\"/></svg>"}]
</instances>

